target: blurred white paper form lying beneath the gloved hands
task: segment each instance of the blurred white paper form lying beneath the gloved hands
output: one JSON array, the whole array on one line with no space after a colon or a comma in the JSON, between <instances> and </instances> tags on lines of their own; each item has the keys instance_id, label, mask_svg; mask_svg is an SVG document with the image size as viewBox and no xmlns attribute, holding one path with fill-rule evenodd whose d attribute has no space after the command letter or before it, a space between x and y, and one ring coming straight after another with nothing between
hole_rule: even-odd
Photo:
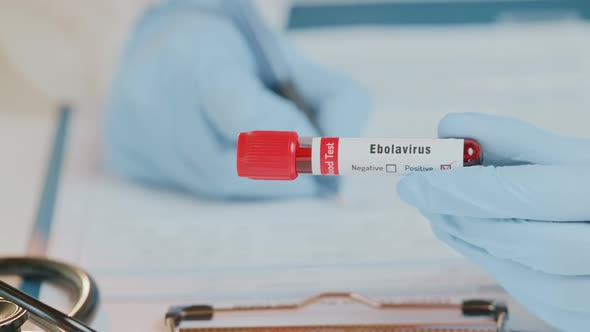
<instances>
[{"instance_id":1,"label":"blurred white paper form lying beneath the gloved hands","mask_svg":"<svg viewBox=\"0 0 590 332\"><path fill-rule=\"evenodd\" d=\"M291 37L369 87L370 136L434 137L438 120L455 111L508 114L585 136L586 30L565 22ZM96 151L88 126L94 121L78 115L73 122L50 253L97 278L101 331L159 331L168 306L193 302L330 290L497 293L493 280L437 241L427 222L399 201L394 179L345 178L334 201L200 201L123 183L92 165L88 171L80 161Z\"/></svg>"}]
</instances>

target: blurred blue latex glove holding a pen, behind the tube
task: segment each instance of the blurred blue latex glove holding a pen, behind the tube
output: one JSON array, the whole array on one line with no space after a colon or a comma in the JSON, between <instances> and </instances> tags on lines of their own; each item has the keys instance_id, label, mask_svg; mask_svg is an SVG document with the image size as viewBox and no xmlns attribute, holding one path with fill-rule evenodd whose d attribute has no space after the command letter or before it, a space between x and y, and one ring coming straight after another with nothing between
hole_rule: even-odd
<instances>
[{"instance_id":1,"label":"blurred blue latex glove holding a pen, behind the tube","mask_svg":"<svg viewBox=\"0 0 590 332\"><path fill-rule=\"evenodd\" d=\"M318 133L293 103L267 88L257 59L227 13L217 8L220 3L167 2L141 19L111 87L107 166L130 179L212 198L333 191L333 182L315 177L279 182L236 175L239 132ZM365 90L276 38L323 134L358 135L370 106Z\"/></svg>"}]
</instances>

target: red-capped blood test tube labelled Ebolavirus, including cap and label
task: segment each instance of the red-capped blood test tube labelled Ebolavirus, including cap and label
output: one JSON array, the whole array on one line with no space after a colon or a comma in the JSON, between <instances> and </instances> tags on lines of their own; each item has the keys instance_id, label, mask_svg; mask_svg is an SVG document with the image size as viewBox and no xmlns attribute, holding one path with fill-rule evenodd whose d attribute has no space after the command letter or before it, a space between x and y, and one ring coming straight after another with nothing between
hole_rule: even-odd
<instances>
[{"instance_id":1,"label":"red-capped blood test tube labelled Ebolavirus, including cap and label","mask_svg":"<svg viewBox=\"0 0 590 332\"><path fill-rule=\"evenodd\" d=\"M292 131L240 133L238 176L294 180L299 174L404 175L481 165L480 145L467 138L299 137Z\"/></svg>"}]
</instances>

